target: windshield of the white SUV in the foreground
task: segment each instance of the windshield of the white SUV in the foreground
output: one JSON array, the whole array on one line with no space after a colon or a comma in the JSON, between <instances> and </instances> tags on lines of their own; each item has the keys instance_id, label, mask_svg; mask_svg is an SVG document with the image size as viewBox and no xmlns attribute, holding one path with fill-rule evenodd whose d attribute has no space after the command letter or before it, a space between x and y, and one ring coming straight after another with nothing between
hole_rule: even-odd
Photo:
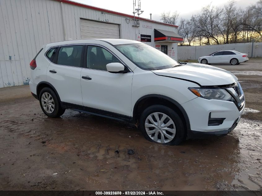
<instances>
[{"instance_id":1,"label":"windshield of the white SUV in the foreground","mask_svg":"<svg viewBox=\"0 0 262 196\"><path fill-rule=\"evenodd\" d=\"M166 54L146 44L117 45L115 48L144 70L167 69L181 65Z\"/></svg>"}]
</instances>

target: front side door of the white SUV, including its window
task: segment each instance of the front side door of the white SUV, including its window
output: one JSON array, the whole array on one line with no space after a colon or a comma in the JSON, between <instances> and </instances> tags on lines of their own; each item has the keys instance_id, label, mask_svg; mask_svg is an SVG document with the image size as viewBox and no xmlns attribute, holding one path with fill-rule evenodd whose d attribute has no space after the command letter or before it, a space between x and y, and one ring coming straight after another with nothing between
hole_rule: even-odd
<instances>
[{"instance_id":1,"label":"front side door of the white SUV, including its window","mask_svg":"<svg viewBox=\"0 0 262 196\"><path fill-rule=\"evenodd\" d=\"M106 64L124 63L103 46L87 46L84 59L84 68L81 71L84 108L95 111L95 113L106 113L113 116L120 114L130 117L134 73L131 71L127 73L108 72Z\"/></svg>"}]
</instances>

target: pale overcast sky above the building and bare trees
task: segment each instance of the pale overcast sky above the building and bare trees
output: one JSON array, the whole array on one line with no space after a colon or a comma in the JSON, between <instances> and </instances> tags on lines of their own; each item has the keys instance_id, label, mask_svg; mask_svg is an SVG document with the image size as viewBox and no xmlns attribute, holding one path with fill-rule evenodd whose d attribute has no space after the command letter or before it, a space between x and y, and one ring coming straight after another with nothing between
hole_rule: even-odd
<instances>
[{"instance_id":1,"label":"pale overcast sky above the building and bare trees","mask_svg":"<svg viewBox=\"0 0 262 196\"><path fill-rule=\"evenodd\" d=\"M133 0L74 0L76 2L84 3L87 5L100 7L108 10L118 11L125 14L133 15ZM258 0L235 0L238 7L245 8L254 4ZM138 0L136 0L138 2ZM141 0L141 10L144 13L140 17L150 19L152 13L152 20L160 21L160 14L165 11L177 10L179 17L190 18L192 14L197 14L201 8L212 3L214 6L224 6L228 0Z\"/></svg>"}]
</instances>

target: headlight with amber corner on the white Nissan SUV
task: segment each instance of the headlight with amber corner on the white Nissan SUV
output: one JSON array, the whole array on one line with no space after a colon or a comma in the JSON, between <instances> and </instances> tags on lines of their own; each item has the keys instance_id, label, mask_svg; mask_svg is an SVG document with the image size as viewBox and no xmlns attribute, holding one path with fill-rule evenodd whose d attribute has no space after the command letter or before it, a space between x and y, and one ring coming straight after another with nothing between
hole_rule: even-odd
<instances>
[{"instance_id":1,"label":"headlight with amber corner on the white Nissan SUV","mask_svg":"<svg viewBox=\"0 0 262 196\"><path fill-rule=\"evenodd\" d=\"M232 98L231 95L224 89L200 89L191 87L189 87L188 89L198 97L206 99L220 99L229 101Z\"/></svg>"}]
</instances>

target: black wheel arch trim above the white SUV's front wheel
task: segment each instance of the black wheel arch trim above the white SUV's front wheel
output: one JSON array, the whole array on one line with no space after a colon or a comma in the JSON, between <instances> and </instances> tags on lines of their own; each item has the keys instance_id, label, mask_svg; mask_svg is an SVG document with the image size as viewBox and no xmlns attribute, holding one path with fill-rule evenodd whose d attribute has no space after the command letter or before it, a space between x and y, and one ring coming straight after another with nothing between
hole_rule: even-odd
<instances>
[{"instance_id":1,"label":"black wheel arch trim above the white SUV's front wheel","mask_svg":"<svg viewBox=\"0 0 262 196\"><path fill-rule=\"evenodd\" d=\"M139 98L135 102L134 109L133 109L133 119L134 120L135 120L135 117L136 117L137 107L138 107L139 103L142 100L146 99L146 98L162 98L162 99L165 99L165 100L173 103L180 110L180 112L182 113L182 115L184 117L184 120L185 120L185 123L186 123L186 126L187 126L187 130L191 129L190 128L189 118L188 118L188 115L187 115L186 111L184 110L184 108L177 101L175 101L174 99L172 99L170 97L167 97L165 95L160 95L160 94L148 94L148 95L144 95L143 97Z\"/></svg>"}]
</instances>

